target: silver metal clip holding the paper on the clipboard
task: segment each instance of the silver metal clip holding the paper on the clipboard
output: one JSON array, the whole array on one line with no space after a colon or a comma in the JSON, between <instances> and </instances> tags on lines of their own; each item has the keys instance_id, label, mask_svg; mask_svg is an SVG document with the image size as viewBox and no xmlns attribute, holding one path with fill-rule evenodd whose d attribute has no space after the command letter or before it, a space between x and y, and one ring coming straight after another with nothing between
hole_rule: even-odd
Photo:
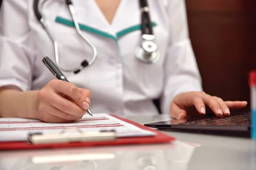
<instances>
[{"instance_id":1,"label":"silver metal clip holding the paper on the clipboard","mask_svg":"<svg viewBox=\"0 0 256 170\"><path fill-rule=\"evenodd\" d=\"M70 131L79 133L67 133ZM101 130L97 132L83 132L81 129L64 129L61 133L30 133L28 138L33 144L113 141L116 139L116 131Z\"/></svg>"}]
</instances>

